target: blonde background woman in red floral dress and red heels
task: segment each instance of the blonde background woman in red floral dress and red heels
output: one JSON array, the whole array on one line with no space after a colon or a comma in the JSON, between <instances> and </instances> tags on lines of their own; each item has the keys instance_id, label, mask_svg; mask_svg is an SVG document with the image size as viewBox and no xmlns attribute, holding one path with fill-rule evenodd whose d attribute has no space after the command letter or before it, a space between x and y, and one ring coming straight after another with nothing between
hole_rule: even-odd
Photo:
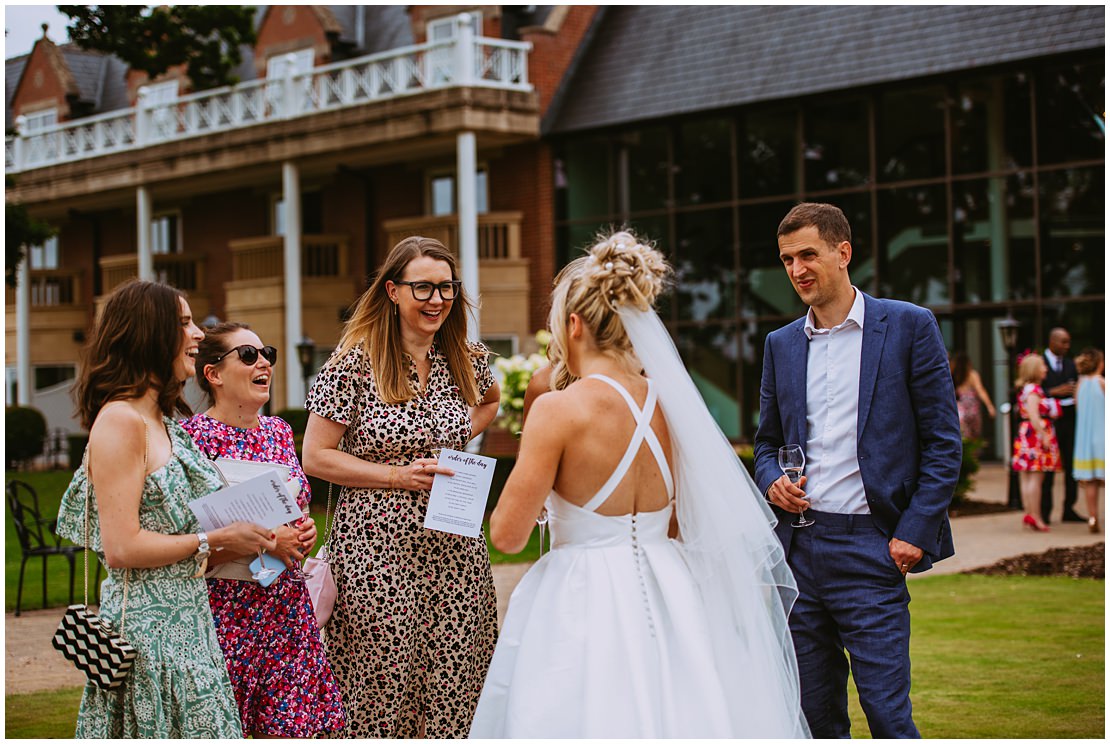
<instances>
[{"instance_id":1,"label":"blonde background woman in red floral dress and red heels","mask_svg":"<svg viewBox=\"0 0 1110 744\"><path fill-rule=\"evenodd\" d=\"M1060 404L1054 398L1046 398L1041 390L1040 383L1046 374L1048 364L1040 354L1027 354L1018 363L1021 426L1013 440L1013 470L1018 471L1021 503L1026 510L1021 523L1036 532L1049 531L1040 519L1045 473L1060 470L1060 444L1052 429L1052 419L1060 416Z\"/></svg>"}]
</instances>

